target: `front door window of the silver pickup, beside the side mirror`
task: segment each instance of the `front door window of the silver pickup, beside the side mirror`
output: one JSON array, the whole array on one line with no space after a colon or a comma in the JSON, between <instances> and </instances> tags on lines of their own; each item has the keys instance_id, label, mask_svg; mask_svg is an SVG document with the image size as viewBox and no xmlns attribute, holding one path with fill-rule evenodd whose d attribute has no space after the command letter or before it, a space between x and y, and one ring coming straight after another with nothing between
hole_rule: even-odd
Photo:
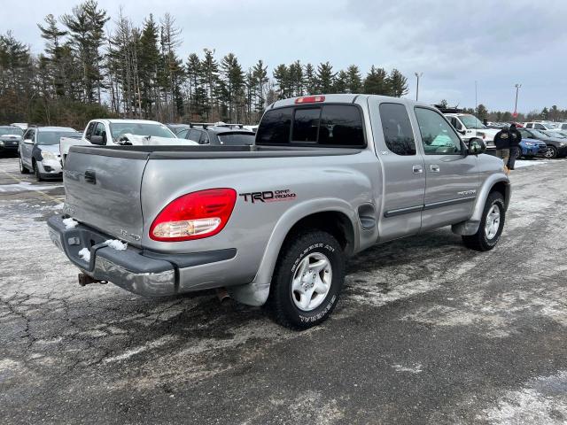
<instances>
[{"instance_id":1,"label":"front door window of the silver pickup, beside the side mirror","mask_svg":"<svg viewBox=\"0 0 567 425\"><path fill-rule=\"evenodd\" d=\"M416 118L425 155L461 155L461 139L439 113L416 108Z\"/></svg>"}]
</instances>

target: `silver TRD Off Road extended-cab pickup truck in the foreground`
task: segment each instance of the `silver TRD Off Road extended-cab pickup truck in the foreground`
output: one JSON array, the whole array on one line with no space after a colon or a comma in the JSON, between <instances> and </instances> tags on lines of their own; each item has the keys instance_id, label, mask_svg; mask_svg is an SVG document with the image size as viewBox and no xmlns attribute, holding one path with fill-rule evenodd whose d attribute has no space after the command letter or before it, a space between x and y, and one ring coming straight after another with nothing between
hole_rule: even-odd
<instances>
[{"instance_id":1,"label":"silver TRD Off Road extended-cab pickup truck in the foreground","mask_svg":"<svg viewBox=\"0 0 567 425\"><path fill-rule=\"evenodd\" d=\"M451 225L493 248L510 184L484 149L427 104L280 100L253 146L71 148L50 238L82 283L150 297L224 288L308 328L337 305L345 260L375 243Z\"/></svg>"}]
</instances>

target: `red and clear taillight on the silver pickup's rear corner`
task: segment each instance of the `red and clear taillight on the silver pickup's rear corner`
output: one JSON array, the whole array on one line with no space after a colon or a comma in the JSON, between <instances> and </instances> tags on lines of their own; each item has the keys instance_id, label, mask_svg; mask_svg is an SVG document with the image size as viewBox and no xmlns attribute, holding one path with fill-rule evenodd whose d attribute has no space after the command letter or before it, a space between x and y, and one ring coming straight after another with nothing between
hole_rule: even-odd
<instances>
[{"instance_id":1,"label":"red and clear taillight on the silver pickup's rear corner","mask_svg":"<svg viewBox=\"0 0 567 425\"><path fill-rule=\"evenodd\" d=\"M179 242L214 236L226 226L236 201L235 189L207 189L178 197L153 220L150 237Z\"/></svg>"}]
</instances>

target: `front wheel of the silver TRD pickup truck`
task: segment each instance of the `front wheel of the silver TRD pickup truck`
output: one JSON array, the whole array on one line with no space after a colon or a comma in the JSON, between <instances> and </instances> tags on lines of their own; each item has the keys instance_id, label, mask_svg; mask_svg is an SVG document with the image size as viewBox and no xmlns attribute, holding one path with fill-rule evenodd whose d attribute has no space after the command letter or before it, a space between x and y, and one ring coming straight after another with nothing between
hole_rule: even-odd
<instances>
[{"instance_id":1,"label":"front wheel of the silver TRD pickup truck","mask_svg":"<svg viewBox=\"0 0 567 425\"><path fill-rule=\"evenodd\" d=\"M471 250L492 250L500 240L505 219L504 197L500 192L492 192L486 198L485 210L482 213L477 233L471 236L462 236L462 242Z\"/></svg>"}]
</instances>

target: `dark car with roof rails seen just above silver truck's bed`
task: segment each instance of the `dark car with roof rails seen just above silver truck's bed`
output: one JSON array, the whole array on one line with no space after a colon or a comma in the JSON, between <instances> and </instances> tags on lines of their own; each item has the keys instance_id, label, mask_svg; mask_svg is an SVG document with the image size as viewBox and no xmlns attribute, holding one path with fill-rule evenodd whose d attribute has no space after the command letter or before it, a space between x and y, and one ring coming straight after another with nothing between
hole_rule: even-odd
<instances>
[{"instance_id":1,"label":"dark car with roof rails seen just above silver truck's bed","mask_svg":"<svg viewBox=\"0 0 567 425\"><path fill-rule=\"evenodd\" d=\"M192 140L198 144L211 144L213 146L249 146L254 144L255 135L243 126L225 124L209 127L207 124L202 124L180 129L177 132L177 137Z\"/></svg>"}]
</instances>

